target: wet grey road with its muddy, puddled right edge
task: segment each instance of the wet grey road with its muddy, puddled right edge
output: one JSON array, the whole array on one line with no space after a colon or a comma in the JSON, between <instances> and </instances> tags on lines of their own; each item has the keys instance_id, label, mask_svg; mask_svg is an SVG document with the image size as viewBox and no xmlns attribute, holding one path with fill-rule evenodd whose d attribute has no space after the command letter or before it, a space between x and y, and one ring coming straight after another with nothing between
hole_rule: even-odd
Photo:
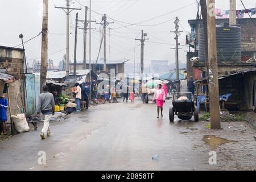
<instances>
[{"instance_id":1,"label":"wet grey road with its muddy, puddled right edge","mask_svg":"<svg viewBox=\"0 0 256 182\"><path fill-rule=\"evenodd\" d=\"M15 135L0 143L1 170L253 170L256 169L256 130L246 122L222 123L156 118L154 104L98 105L51 123L52 136L38 131ZM193 118L192 118L193 119ZM230 127L231 126L231 127ZM38 152L46 152L46 165ZM216 151L217 164L209 164ZM152 160L152 156L158 159Z\"/></svg>"}]
</instances>

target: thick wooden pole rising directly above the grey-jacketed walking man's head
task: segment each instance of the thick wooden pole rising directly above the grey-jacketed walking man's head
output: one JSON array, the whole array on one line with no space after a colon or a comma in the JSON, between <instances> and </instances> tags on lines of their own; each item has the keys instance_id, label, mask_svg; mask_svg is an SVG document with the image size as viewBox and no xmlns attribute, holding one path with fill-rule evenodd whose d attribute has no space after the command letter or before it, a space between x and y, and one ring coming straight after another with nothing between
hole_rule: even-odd
<instances>
[{"instance_id":1,"label":"thick wooden pole rising directly above the grey-jacketed walking man's head","mask_svg":"<svg viewBox=\"0 0 256 182\"><path fill-rule=\"evenodd\" d=\"M42 24L42 47L41 47L41 69L40 69L40 93L46 85L47 56L48 56L48 0L43 1L43 24Z\"/></svg>"}]
</instances>

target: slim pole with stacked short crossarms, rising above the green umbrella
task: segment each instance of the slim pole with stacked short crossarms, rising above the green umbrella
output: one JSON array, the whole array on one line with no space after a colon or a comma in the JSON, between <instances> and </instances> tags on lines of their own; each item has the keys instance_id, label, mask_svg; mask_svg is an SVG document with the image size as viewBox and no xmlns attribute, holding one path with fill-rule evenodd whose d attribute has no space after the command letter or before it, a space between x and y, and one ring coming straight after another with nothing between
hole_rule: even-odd
<instances>
[{"instance_id":1,"label":"slim pole with stacked short crossarms, rising above the green umbrella","mask_svg":"<svg viewBox=\"0 0 256 182\"><path fill-rule=\"evenodd\" d=\"M175 31L171 31L172 33L175 33L176 36L175 36L175 40L176 40L176 47L175 48L171 48L171 49L175 49L176 52L175 52L175 60L176 60L176 80L179 80L179 49L182 49L182 48L179 48L180 44L179 44L179 36L180 36L180 32L183 32L183 31L179 31L179 25L178 23L180 22L179 18L176 17L176 20L174 22L175 24Z\"/></svg>"}]
</instances>

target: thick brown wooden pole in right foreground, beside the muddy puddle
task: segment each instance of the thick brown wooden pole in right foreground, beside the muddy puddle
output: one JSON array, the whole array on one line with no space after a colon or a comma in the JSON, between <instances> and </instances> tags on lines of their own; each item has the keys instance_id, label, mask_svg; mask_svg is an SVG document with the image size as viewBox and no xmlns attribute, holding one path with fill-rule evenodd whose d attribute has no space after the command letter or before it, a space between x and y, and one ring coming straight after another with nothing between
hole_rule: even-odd
<instances>
[{"instance_id":1,"label":"thick brown wooden pole in right foreground, beside the muddy puddle","mask_svg":"<svg viewBox=\"0 0 256 182\"><path fill-rule=\"evenodd\" d=\"M221 129L220 101L218 91L218 62L216 41L215 0L207 0L208 27L208 59L209 59L209 97L210 97L210 126ZM207 45L206 45L207 46Z\"/></svg>"}]
</instances>

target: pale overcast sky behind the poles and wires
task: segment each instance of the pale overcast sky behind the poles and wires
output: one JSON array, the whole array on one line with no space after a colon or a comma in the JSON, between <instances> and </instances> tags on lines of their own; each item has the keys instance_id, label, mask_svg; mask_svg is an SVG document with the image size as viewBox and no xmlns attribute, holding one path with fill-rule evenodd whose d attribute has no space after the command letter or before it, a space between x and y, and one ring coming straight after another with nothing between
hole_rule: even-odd
<instances>
[{"instance_id":1,"label":"pale overcast sky behind the poles and wires","mask_svg":"<svg viewBox=\"0 0 256 182\"><path fill-rule=\"evenodd\" d=\"M89 6L89 0L77 0L82 5ZM92 0L92 10L100 14L107 14L111 18L127 23L138 23L146 19L154 18L170 11L180 9L180 7L189 5L196 0ZM255 0L243 0L247 9L255 7ZM21 43L19 34L24 35L24 41L36 36L42 30L42 3L43 0L0 0L0 45L14 47ZM48 35L48 55L56 65L62 59L65 53L65 28L66 28L66 15L64 11L55 9L56 6L65 6L65 0L49 0L49 35ZM74 55L74 40L75 40L75 14L79 13L79 19L84 20L84 7L80 6L75 0L71 3L71 7L82 8L81 11L73 11L70 18L70 59L73 60ZM229 9L229 0L216 0L216 8ZM237 0L237 9L243 9L240 1ZM169 60L169 63L175 63L175 47L174 33L170 31L175 30L174 20L176 16L180 19L180 31L190 31L187 23L188 19L196 18L196 3L191 6L185 7L182 10L164 15L160 18L143 22L143 25L154 25L162 22L159 26L129 26L127 28L118 28L127 24L114 22L108 28L118 28L111 30L110 35L110 59L130 59L129 63L134 63L134 55L136 63L140 60L140 42L135 38L141 30L148 34L145 42L145 55L144 59L146 64L150 60ZM255 16L253 16L255 18ZM101 15L92 13L92 20L101 21ZM108 19L112 22L111 19ZM83 27L79 23L80 28ZM92 60L96 60L98 49L100 47L100 33L98 32L100 25L92 23ZM88 27L89 28L89 27ZM188 48L184 46L186 33L181 33L179 38L180 45L180 62L185 63L186 53ZM118 36L123 36L121 38ZM41 54L41 36L38 36L31 42L25 44L26 57L28 63L32 63L33 59L40 61ZM83 33L82 30L78 31L77 42L77 60L83 59ZM107 31L107 58L109 59L109 30ZM152 43L157 42L157 43ZM163 44L159 44L163 43ZM89 35L88 35L89 46ZM135 49L135 51L134 51ZM135 52L135 53L134 53ZM89 59L89 51L88 51Z\"/></svg>"}]
</instances>

